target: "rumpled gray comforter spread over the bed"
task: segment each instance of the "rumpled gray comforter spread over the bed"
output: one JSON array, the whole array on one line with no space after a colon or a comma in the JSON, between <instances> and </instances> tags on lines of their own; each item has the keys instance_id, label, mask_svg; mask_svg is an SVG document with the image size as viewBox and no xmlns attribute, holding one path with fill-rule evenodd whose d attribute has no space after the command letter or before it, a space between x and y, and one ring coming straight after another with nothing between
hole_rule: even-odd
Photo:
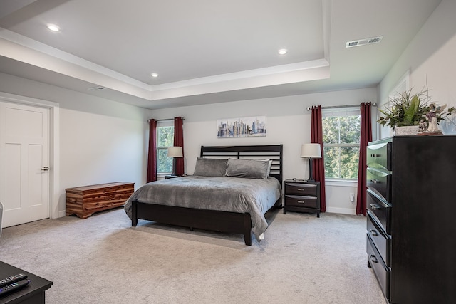
<instances>
[{"instance_id":1,"label":"rumpled gray comforter spread over the bed","mask_svg":"<svg viewBox=\"0 0 456 304\"><path fill-rule=\"evenodd\" d=\"M249 213L257 239L268 226L264 214L281 196L280 183L274 177L247 179L239 177L179 177L150 182L140 187L125 203L131 219L132 201Z\"/></svg>"}]
</instances>

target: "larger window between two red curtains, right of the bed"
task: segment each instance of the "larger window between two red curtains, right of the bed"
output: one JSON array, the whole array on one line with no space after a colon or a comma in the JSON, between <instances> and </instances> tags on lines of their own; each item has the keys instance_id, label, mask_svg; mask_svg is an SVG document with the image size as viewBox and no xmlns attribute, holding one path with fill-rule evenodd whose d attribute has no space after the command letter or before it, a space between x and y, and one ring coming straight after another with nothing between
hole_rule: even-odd
<instances>
[{"instance_id":1,"label":"larger window between two red curtains, right of the bed","mask_svg":"<svg viewBox=\"0 0 456 304\"><path fill-rule=\"evenodd\" d=\"M359 108L323 109L321 119L326 179L358 179Z\"/></svg>"}]
</instances>

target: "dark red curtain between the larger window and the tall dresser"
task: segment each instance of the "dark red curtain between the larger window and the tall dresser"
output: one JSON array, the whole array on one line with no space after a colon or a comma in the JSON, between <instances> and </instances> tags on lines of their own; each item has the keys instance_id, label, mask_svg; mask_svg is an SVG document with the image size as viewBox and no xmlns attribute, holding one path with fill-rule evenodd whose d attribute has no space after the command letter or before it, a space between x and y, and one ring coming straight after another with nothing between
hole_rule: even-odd
<instances>
[{"instance_id":1,"label":"dark red curtain between the larger window and the tall dresser","mask_svg":"<svg viewBox=\"0 0 456 304\"><path fill-rule=\"evenodd\" d=\"M361 103L361 138L359 142L358 164L358 196L356 198L356 214L366 216L366 170L367 147L372 141L371 103Z\"/></svg>"}]
</instances>

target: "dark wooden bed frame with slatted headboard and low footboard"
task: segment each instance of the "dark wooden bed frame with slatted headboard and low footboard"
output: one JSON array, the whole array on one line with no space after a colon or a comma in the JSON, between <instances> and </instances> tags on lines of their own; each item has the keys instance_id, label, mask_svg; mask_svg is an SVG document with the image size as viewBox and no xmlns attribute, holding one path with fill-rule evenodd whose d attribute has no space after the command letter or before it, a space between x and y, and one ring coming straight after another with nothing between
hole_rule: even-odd
<instances>
[{"instance_id":1,"label":"dark wooden bed frame with slatted headboard and low footboard","mask_svg":"<svg viewBox=\"0 0 456 304\"><path fill-rule=\"evenodd\" d=\"M219 146L201 147L200 157L206 158L238 158L238 159L271 159L271 177L282 184L283 145L254 145L254 146ZM281 207L281 198L275 207ZM138 224L138 219L157 221L163 224L222 231L234 234L244 234L244 242L252 245L252 221L250 214L193 209L177 206L147 204L139 201L132 202L132 226Z\"/></svg>"}]
</instances>

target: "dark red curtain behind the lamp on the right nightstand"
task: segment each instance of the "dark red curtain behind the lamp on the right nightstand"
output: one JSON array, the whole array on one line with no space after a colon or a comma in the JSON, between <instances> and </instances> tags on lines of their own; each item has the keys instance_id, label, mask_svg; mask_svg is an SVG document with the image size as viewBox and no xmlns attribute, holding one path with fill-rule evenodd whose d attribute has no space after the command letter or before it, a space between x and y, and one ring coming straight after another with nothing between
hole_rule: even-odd
<instances>
[{"instance_id":1,"label":"dark red curtain behind the lamp on the right nightstand","mask_svg":"<svg viewBox=\"0 0 456 304\"><path fill-rule=\"evenodd\" d=\"M320 182L320 211L326 212L325 160L323 153L323 127L321 125L321 105L312 107L311 143L320 144L321 158L314 158L314 179Z\"/></svg>"}]
</instances>

